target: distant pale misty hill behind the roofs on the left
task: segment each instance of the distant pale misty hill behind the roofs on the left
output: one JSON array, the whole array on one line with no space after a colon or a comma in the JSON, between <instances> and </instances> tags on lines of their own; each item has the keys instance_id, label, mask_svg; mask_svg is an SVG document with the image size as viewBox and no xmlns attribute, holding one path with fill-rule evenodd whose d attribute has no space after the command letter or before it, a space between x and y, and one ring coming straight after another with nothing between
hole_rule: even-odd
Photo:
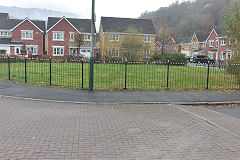
<instances>
[{"instance_id":1,"label":"distant pale misty hill behind the roofs on the left","mask_svg":"<svg viewBox=\"0 0 240 160\"><path fill-rule=\"evenodd\" d=\"M30 19L38 20L47 20L48 17L79 17L76 14L67 13L67 12L58 12L47 9L38 9L38 8L20 8L20 7L6 7L0 6L0 12L9 13L11 18L24 19L26 17ZM81 18L81 16L80 16Z\"/></svg>"}]
</instances>

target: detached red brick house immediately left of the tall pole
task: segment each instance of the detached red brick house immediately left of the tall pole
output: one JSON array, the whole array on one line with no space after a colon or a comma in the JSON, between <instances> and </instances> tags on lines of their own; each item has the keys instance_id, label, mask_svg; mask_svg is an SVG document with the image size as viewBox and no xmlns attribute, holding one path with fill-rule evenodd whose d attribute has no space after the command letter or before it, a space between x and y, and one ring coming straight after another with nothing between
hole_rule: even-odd
<instances>
[{"instance_id":1,"label":"detached red brick house immediately left of the tall pole","mask_svg":"<svg viewBox=\"0 0 240 160\"><path fill-rule=\"evenodd\" d=\"M79 39L82 37L83 41L76 42L76 37L79 37ZM96 40L96 38L94 39ZM49 17L46 32L46 51L49 56L83 56L90 58L91 20Z\"/></svg>"}]
</instances>

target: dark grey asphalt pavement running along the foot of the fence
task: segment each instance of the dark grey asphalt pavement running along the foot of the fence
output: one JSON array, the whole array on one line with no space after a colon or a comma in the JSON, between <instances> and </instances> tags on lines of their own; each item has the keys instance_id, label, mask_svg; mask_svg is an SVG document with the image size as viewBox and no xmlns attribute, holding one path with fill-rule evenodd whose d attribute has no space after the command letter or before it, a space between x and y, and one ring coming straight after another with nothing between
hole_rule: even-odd
<instances>
[{"instance_id":1,"label":"dark grey asphalt pavement running along the foot of the fence","mask_svg":"<svg viewBox=\"0 0 240 160\"><path fill-rule=\"evenodd\" d=\"M0 96L24 97L71 102L95 103L240 103L240 91L234 92L135 92L56 89L0 82Z\"/></svg>"}]
</instances>

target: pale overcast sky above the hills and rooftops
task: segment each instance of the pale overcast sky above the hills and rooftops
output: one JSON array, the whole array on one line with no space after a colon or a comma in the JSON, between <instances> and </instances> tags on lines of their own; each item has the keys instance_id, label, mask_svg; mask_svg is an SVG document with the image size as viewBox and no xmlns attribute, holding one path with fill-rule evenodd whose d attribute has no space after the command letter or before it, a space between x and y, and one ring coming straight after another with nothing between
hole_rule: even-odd
<instances>
[{"instance_id":1,"label":"pale overcast sky above the hills and rooftops","mask_svg":"<svg viewBox=\"0 0 240 160\"><path fill-rule=\"evenodd\" d=\"M141 13L166 7L176 0L96 0L96 15L137 18ZM180 0L183 1L183 0ZM0 5L26 8L45 8L71 12L90 18L91 0L1 0Z\"/></svg>"}]
</instances>

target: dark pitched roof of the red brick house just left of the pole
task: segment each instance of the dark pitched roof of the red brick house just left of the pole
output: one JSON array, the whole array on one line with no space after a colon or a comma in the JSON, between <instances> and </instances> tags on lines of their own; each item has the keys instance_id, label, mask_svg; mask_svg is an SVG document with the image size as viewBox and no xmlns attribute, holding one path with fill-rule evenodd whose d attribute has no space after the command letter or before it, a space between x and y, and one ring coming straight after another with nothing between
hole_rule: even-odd
<instances>
[{"instance_id":1,"label":"dark pitched roof of the red brick house just left of the pole","mask_svg":"<svg viewBox=\"0 0 240 160\"><path fill-rule=\"evenodd\" d=\"M64 17L65 18L65 17ZM47 30L51 29L61 19L59 17L48 17ZM91 20L90 19L76 19L66 18L76 29L83 29L85 33L91 33ZM96 32L96 29L95 29Z\"/></svg>"}]
</instances>

